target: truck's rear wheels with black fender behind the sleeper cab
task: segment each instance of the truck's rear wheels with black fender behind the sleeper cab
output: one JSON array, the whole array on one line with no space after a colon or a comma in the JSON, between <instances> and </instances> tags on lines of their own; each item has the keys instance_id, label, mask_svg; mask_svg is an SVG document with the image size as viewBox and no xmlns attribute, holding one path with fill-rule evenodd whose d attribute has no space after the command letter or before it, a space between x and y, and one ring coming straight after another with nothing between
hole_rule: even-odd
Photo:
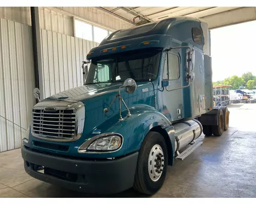
<instances>
[{"instance_id":1,"label":"truck's rear wheels with black fender behind the sleeper cab","mask_svg":"<svg viewBox=\"0 0 256 204\"><path fill-rule=\"evenodd\" d=\"M209 113L202 115L199 121L203 125L203 134L205 136L220 137L223 131L229 127L229 111L226 106L215 107Z\"/></svg>"}]
</instances>

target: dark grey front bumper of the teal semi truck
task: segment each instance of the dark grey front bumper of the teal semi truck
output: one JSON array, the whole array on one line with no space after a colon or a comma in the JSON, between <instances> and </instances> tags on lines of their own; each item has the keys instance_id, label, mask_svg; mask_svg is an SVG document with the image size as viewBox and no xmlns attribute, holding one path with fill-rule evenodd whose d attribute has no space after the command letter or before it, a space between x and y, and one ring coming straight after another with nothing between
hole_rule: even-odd
<instances>
[{"instance_id":1,"label":"dark grey front bumper of the teal semi truck","mask_svg":"<svg viewBox=\"0 0 256 204\"><path fill-rule=\"evenodd\" d=\"M26 172L35 179L75 191L113 194L133 186L138 152L114 160L70 159L22 147ZM38 166L44 167L44 173Z\"/></svg>"}]
</instances>

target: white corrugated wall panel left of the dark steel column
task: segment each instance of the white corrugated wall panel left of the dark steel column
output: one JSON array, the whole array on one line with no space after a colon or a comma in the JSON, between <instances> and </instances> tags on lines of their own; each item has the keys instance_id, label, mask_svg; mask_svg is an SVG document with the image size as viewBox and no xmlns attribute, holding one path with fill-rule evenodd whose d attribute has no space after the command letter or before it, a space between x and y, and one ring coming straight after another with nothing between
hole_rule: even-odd
<instances>
[{"instance_id":1,"label":"white corrugated wall panel left of the dark steel column","mask_svg":"<svg viewBox=\"0 0 256 204\"><path fill-rule=\"evenodd\" d=\"M31 120L34 71L31 27L0 18L0 115L27 129ZM0 117L0 151L18 148L17 125Z\"/></svg>"}]
</instances>

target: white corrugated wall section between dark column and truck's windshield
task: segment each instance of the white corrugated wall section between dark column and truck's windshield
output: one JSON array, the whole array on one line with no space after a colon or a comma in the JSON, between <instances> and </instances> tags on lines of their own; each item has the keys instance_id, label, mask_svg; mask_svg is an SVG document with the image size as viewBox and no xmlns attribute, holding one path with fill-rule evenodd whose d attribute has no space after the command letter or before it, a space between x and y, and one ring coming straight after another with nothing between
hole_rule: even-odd
<instances>
[{"instance_id":1,"label":"white corrugated wall section between dark column and truck's windshield","mask_svg":"<svg viewBox=\"0 0 256 204\"><path fill-rule=\"evenodd\" d=\"M44 96L82 86L82 61L98 43L41 30Z\"/></svg>"}]
</instances>

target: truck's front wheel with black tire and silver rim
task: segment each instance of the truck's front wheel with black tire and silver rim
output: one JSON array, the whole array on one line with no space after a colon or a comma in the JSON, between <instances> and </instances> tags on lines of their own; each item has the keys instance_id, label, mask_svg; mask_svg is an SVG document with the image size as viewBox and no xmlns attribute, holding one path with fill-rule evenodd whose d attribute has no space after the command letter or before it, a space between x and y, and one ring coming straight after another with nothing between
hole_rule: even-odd
<instances>
[{"instance_id":1,"label":"truck's front wheel with black tire and silver rim","mask_svg":"<svg viewBox=\"0 0 256 204\"><path fill-rule=\"evenodd\" d=\"M149 132L139 151L134 189L148 195L156 193L164 183L167 161L167 146L163 136Z\"/></svg>"}]
</instances>

